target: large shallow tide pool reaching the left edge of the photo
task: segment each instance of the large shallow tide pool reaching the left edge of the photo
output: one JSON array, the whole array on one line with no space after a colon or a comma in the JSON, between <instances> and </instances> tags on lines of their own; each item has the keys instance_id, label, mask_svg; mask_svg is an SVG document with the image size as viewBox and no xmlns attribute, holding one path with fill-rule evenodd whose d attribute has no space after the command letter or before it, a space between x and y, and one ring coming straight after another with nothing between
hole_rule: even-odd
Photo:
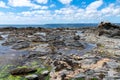
<instances>
[{"instance_id":1,"label":"large shallow tide pool reaching the left edge of the photo","mask_svg":"<svg viewBox=\"0 0 120 80\"><path fill-rule=\"evenodd\" d=\"M15 64L19 61L19 56L25 54L26 51L13 50L11 46L3 46L2 43L7 39L8 34L0 34L4 38L4 40L0 40L0 66Z\"/></svg>"}]
</instances>

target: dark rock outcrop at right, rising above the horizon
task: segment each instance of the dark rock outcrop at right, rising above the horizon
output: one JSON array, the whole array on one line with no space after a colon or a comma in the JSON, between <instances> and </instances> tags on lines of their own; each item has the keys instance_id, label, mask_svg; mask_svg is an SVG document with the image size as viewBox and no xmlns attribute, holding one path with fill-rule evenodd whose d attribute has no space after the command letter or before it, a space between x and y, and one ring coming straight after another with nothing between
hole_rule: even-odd
<instances>
[{"instance_id":1,"label":"dark rock outcrop at right, rising above the horizon","mask_svg":"<svg viewBox=\"0 0 120 80\"><path fill-rule=\"evenodd\" d=\"M107 36L111 38L120 38L120 26L109 23L101 22L98 26L99 36Z\"/></svg>"}]
</instances>

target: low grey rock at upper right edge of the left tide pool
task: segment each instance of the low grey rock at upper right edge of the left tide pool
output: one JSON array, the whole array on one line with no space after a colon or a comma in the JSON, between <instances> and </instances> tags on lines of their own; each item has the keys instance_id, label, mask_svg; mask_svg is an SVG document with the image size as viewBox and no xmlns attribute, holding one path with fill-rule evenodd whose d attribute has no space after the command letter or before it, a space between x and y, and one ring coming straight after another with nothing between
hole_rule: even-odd
<instances>
[{"instance_id":1,"label":"low grey rock at upper right edge of the left tide pool","mask_svg":"<svg viewBox=\"0 0 120 80\"><path fill-rule=\"evenodd\" d=\"M20 43L16 43L13 45L12 49L23 49L23 48L28 48L30 46L30 43L29 42L20 42Z\"/></svg>"}]
</instances>

